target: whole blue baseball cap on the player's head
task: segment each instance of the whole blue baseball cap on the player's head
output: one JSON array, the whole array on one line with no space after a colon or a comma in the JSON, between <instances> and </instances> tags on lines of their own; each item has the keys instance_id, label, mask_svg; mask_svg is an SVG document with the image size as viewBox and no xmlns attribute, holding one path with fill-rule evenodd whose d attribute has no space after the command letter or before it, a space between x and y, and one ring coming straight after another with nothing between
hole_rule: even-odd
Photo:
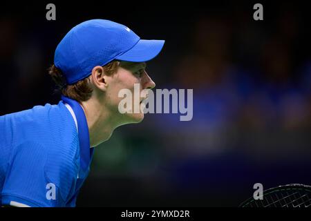
<instances>
[{"instance_id":1,"label":"whole blue baseball cap on the player's head","mask_svg":"<svg viewBox=\"0 0 311 221\"><path fill-rule=\"evenodd\" d=\"M143 40L131 29L113 21L92 19L79 23L59 42L54 64L67 84L89 75L95 66L113 60L143 62L156 57L164 40Z\"/></svg>"}]
</instances>

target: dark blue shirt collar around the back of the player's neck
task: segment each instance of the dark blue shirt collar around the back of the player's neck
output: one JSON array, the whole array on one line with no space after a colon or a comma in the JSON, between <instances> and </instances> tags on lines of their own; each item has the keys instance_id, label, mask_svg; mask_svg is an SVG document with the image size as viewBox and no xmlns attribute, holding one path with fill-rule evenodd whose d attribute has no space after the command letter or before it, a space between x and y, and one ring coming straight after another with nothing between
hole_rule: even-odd
<instances>
[{"instance_id":1,"label":"dark blue shirt collar around the back of the player's neck","mask_svg":"<svg viewBox=\"0 0 311 221\"><path fill-rule=\"evenodd\" d=\"M63 102L66 102L70 105L75 113L75 117L77 119L77 128L78 128L78 137L79 137L79 152L80 152L80 165L82 171L86 172L88 170L88 166L91 163L91 159L93 157L93 149L90 148L90 136L88 133L88 123L86 121L86 116L83 111L82 106L75 101L74 99L70 99L62 95Z\"/></svg>"}]
</instances>

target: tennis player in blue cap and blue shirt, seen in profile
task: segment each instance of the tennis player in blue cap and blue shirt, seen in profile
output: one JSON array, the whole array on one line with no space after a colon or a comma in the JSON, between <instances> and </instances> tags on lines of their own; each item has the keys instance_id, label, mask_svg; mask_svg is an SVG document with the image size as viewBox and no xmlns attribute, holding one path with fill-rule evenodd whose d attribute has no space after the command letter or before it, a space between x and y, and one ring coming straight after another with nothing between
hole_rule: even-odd
<instances>
[{"instance_id":1,"label":"tennis player in blue cap and blue shirt, seen in profile","mask_svg":"<svg viewBox=\"0 0 311 221\"><path fill-rule=\"evenodd\" d=\"M94 147L142 121L144 113L118 111L118 93L155 86L145 61L163 45L103 19L72 28L49 70L62 100L0 117L0 205L75 206Z\"/></svg>"}]
</instances>

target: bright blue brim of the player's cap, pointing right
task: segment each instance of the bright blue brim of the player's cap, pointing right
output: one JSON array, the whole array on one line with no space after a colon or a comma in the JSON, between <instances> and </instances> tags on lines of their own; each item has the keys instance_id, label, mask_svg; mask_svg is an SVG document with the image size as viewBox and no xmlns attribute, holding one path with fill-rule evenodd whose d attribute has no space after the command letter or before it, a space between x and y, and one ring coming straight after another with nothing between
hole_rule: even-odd
<instances>
[{"instance_id":1,"label":"bright blue brim of the player's cap, pointing right","mask_svg":"<svg viewBox=\"0 0 311 221\"><path fill-rule=\"evenodd\" d=\"M115 59L121 61L144 62L156 57L164 46L164 40L143 40L138 41L133 48Z\"/></svg>"}]
</instances>

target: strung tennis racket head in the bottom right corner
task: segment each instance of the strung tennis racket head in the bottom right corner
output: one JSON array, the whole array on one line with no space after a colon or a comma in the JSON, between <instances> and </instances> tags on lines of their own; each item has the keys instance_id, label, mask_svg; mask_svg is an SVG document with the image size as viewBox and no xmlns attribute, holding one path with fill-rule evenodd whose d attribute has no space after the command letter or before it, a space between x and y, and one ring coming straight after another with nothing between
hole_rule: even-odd
<instances>
[{"instance_id":1,"label":"strung tennis racket head in the bottom right corner","mask_svg":"<svg viewBox=\"0 0 311 221\"><path fill-rule=\"evenodd\" d=\"M240 207L311 207L311 186L288 184L263 191L263 200L249 198Z\"/></svg>"}]
</instances>

